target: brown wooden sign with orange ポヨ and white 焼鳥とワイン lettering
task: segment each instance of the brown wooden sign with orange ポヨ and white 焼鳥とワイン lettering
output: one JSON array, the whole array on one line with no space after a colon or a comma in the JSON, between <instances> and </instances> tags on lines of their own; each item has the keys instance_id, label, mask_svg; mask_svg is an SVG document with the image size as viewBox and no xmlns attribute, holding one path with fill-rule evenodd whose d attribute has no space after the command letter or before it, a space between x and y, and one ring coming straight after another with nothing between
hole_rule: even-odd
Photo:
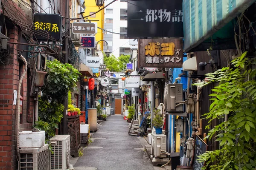
<instances>
[{"instance_id":1,"label":"brown wooden sign with orange \u30dd\u30e8 and white \u713c\u9ce5\u3068\u30ef\u30a4\u30f3 lettering","mask_svg":"<svg viewBox=\"0 0 256 170\"><path fill-rule=\"evenodd\" d=\"M181 39L140 39L138 60L138 67L181 68L183 42Z\"/></svg>"}]
</instances>

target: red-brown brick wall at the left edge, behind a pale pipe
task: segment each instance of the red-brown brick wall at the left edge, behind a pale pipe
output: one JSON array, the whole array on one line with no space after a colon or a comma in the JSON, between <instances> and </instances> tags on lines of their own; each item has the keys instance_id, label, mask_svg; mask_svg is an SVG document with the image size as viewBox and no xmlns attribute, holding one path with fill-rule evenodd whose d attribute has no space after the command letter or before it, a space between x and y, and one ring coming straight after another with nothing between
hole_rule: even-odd
<instances>
[{"instance_id":1,"label":"red-brown brick wall at the left edge, behind a pale pipe","mask_svg":"<svg viewBox=\"0 0 256 170\"><path fill-rule=\"evenodd\" d=\"M10 0L8 0L10 2ZM3 2L4 5L15 5L12 11L19 13L19 17L26 19L26 14L15 4ZM11 6L10 6L11 8ZM16 11L17 10L17 11ZM20 42L19 28L7 28L7 37L11 42ZM10 54L5 64L0 64L0 170L17 170L16 159L16 105L13 105L14 90L18 91L20 73L24 63L18 59L17 45L8 44ZM28 68L29 70L30 68ZM32 72L32 71L31 71ZM20 114L20 131L31 130L33 119L33 97L28 97L30 90L27 88L31 78L26 73L22 82L21 96L23 96L22 114ZM29 99L29 101L27 101ZM28 106L27 106L28 105Z\"/></svg>"}]
</instances>

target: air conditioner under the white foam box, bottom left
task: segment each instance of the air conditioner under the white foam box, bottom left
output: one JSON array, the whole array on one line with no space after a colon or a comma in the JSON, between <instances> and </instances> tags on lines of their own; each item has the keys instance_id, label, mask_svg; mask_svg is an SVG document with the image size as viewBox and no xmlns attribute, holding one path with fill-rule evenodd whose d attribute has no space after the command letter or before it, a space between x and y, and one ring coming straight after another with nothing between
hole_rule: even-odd
<instances>
[{"instance_id":1,"label":"air conditioner under the white foam box, bottom left","mask_svg":"<svg viewBox=\"0 0 256 170\"><path fill-rule=\"evenodd\" d=\"M49 144L40 148L20 148L20 170L49 170Z\"/></svg>"}]
</instances>

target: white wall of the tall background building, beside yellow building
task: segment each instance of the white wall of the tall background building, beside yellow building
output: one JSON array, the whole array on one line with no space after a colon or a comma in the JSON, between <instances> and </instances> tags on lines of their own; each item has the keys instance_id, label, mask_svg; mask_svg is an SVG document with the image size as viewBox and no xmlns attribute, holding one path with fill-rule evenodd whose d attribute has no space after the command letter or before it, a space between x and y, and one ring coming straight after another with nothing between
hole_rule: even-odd
<instances>
[{"instance_id":1,"label":"white wall of the tall background building, beside yellow building","mask_svg":"<svg viewBox=\"0 0 256 170\"><path fill-rule=\"evenodd\" d=\"M105 0L105 5L110 3L112 0ZM127 27L127 21L120 20L120 9L127 9L127 3L120 2L120 0L115 1L106 9L113 9L113 14L106 14L105 11L105 19L113 18L113 32L120 33L120 27ZM130 48L129 39L120 39L119 34L113 34L113 51L112 54L115 57L119 57L119 48Z\"/></svg>"}]
</instances>

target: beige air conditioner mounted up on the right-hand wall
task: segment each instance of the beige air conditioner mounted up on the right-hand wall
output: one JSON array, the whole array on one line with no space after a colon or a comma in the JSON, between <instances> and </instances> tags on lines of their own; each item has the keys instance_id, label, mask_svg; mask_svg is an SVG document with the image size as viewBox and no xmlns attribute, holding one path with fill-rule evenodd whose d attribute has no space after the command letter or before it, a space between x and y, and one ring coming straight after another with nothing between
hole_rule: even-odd
<instances>
[{"instance_id":1,"label":"beige air conditioner mounted up on the right-hand wall","mask_svg":"<svg viewBox=\"0 0 256 170\"><path fill-rule=\"evenodd\" d=\"M181 102L183 102L182 84L165 85L164 107L165 107L166 113L183 112L183 105L180 104Z\"/></svg>"}]
</instances>

